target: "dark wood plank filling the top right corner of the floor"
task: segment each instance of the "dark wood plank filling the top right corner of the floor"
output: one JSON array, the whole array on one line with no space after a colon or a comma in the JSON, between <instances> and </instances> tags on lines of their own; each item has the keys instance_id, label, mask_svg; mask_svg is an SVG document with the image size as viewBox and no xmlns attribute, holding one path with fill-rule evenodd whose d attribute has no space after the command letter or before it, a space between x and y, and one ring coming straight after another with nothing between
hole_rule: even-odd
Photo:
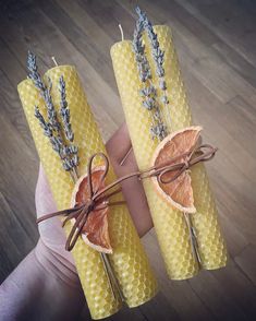
<instances>
[{"instance_id":1,"label":"dark wood plank filling the top right corner of the floor","mask_svg":"<svg viewBox=\"0 0 256 321\"><path fill-rule=\"evenodd\" d=\"M200 23L255 66L255 5L240 1L179 1ZM249 3L249 1L247 1ZM232 8L232 9L231 9Z\"/></svg>"}]
</instances>

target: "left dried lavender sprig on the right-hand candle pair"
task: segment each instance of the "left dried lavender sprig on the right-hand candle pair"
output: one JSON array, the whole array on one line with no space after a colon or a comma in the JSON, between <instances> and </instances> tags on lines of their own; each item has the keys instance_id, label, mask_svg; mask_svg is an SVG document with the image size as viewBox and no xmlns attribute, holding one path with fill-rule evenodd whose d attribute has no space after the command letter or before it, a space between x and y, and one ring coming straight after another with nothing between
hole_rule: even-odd
<instances>
[{"instance_id":1,"label":"left dried lavender sprig on the right-hand candle pair","mask_svg":"<svg viewBox=\"0 0 256 321\"><path fill-rule=\"evenodd\" d=\"M150 66L146 58L145 46L142 40L142 33L145 28L144 23L144 17L141 15L134 31L133 51L135 54L139 78L144 83L144 88L139 91L141 95L144 97L143 106L153 111L150 133L153 139L158 138L161 141L167 135L167 131L160 116L157 91L151 82Z\"/></svg>"}]
</instances>

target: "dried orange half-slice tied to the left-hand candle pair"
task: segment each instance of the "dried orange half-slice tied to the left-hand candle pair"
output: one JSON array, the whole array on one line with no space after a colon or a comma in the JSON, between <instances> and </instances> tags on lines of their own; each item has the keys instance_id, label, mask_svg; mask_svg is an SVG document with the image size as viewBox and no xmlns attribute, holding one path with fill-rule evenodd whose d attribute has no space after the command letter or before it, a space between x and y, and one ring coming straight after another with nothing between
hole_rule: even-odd
<instances>
[{"instance_id":1,"label":"dried orange half-slice tied to the left-hand candle pair","mask_svg":"<svg viewBox=\"0 0 256 321\"><path fill-rule=\"evenodd\" d=\"M102 189L105 187L105 181L101 181L101 177L105 173L103 166L97 166L92 173L92 183L93 190ZM75 183L71 205L80 204L82 202L87 202L89 199L88 190L88 177L87 174L82 176ZM100 204L101 205L101 204ZM99 207L99 206L98 206ZM112 248L110 245L109 237L109 226L108 226L108 214L109 207L97 209L92 211L82 230L83 240L99 252L112 253ZM74 223L74 219L73 219Z\"/></svg>"}]
</instances>

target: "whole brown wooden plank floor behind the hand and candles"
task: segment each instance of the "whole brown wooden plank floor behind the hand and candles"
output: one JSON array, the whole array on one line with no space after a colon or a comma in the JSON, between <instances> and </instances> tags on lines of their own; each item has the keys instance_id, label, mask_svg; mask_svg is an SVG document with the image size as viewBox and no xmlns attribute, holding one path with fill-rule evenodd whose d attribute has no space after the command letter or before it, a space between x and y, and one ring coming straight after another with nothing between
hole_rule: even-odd
<instances>
[{"instance_id":1,"label":"whole brown wooden plank floor behind the hand and candles","mask_svg":"<svg viewBox=\"0 0 256 321\"><path fill-rule=\"evenodd\" d=\"M1 2L1 1L0 1ZM110 46L134 27L135 1L2 1L0 5L0 281L35 246L38 157L16 85L28 48L42 69L75 64L107 140L124 117ZM219 147L208 166L231 260L227 269L168 281L156 237L144 243L161 292L110 320L256 320L256 2L139 1L157 24L172 27L197 123ZM103 117L102 117L103 115ZM0 318L1 319L1 318Z\"/></svg>"}]
</instances>

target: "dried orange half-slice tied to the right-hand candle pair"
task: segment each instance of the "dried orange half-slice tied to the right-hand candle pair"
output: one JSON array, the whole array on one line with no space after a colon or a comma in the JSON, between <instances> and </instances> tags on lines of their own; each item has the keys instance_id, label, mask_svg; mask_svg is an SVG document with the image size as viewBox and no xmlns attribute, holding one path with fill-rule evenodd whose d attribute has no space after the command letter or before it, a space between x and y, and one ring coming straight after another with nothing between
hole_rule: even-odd
<instances>
[{"instance_id":1,"label":"dried orange half-slice tied to the right-hand candle pair","mask_svg":"<svg viewBox=\"0 0 256 321\"><path fill-rule=\"evenodd\" d=\"M184 162L185 157L179 157L179 155L192 151L199 139L200 131L202 127L194 126L169 134L157 146L153 156L151 165L160 167L164 166L167 163L174 165ZM176 158L170 163L170 159L173 157ZM168 181L178 175L178 171L179 170L166 173L162 176L162 179ZM168 183L162 183L157 177L151 177L151 179L157 192L170 205L182 212L196 212L190 170L183 171L175 180Z\"/></svg>"}]
</instances>

